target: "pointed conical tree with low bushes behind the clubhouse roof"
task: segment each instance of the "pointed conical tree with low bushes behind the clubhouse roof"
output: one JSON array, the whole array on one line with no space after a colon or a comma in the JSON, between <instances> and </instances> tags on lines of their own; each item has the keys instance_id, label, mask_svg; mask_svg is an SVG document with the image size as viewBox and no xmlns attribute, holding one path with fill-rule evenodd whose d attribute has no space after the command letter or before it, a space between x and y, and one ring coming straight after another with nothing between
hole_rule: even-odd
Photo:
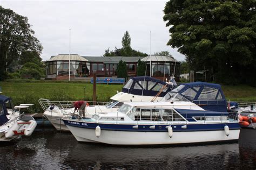
<instances>
[{"instance_id":1,"label":"pointed conical tree with low bushes behind the clubhouse roof","mask_svg":"<svg viewBox=\"0 0 256 170\"><path fill-rule=\"evenodd\" d=\"M114 51L110 51L109 48L107 48L103 56L147 56L146 53L142 53L131 48L131 37L128 31L124 33L122 45L122 48L115 47Z\"/></svg>"}]
</instances>

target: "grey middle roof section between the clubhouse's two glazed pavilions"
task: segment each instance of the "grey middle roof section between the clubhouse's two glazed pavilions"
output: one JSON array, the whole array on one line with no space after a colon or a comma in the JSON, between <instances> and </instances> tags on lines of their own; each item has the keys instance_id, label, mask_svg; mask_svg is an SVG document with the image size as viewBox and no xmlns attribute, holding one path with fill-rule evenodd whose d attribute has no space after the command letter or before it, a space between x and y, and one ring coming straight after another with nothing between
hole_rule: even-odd
<instances>
[{"instance_id":1,"label":"grey middle roof section between the clubhouse's two glazed pavilions","mask_svg":"<svg viewBox=\"0 0 256 170\"><path fill-rule=\"evenodd\" d=\"M144 56L83 56L88 61L104 62L104 63L118 63L120 60L125 62L138 62Z\"/></svg>"}]
</instances>

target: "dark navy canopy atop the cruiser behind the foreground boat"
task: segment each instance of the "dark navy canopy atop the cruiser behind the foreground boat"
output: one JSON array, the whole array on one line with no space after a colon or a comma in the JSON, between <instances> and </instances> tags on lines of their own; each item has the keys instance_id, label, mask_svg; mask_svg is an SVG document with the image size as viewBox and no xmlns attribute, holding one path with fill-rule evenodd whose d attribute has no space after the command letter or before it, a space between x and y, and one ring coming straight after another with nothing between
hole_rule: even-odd
<instances>
[{"instance_id":1,"label":"dark navy canopy atop the cruiser behind the foreground boat","mask_svg":"<svg viewBox=\"0 0 256 170\"><path fill-rule=\"evenodd\" d=\"M122 91L124 93L143 95L143 96L156 96L159 90L166 85L166 82L154 79L150 76L131 77L125 84ZM162 97L172 90L172 85L167 84L163 92L159 95Z\"/></svg>"}]
</instances>

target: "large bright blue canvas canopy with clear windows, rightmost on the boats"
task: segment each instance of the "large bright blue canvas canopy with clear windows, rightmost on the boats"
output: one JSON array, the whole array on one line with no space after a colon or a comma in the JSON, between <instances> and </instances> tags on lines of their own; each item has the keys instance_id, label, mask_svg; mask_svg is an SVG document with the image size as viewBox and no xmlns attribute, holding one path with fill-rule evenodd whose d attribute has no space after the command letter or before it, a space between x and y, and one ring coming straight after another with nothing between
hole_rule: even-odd
<instances>
[{"instance_id":1,"label":"large bright blue canvas canopy with clear windows, rightmost on the boats","mask_svg":"<svg viewBox=\"0 0 256 170\"><path fill-rule=\"evenodd\" d=\"M219 84L206 82L193 82L180 84L166 95L166 100L173 100L175 94L179 94L179 98L185 98L205 110L226 112L226 98Z\"/></svg>"}]
</instances>

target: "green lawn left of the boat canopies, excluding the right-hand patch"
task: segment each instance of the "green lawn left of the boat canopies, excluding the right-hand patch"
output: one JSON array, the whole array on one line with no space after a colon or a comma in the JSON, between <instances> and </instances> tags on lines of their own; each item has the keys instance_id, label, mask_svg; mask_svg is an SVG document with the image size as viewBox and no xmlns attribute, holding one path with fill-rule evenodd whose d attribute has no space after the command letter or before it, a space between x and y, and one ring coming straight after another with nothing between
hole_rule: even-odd
<instances>
[{"instance_id":1,"label":"green lawn left of the boat canopies, excluding the right-hand patch","mask_svg":"<svg viewBox=\"0 0 256 170\"><path fill-rule=\"evenodd\" d=\"M92 84L84 82L52 81L2 81L3 95L13 99L15 105L20 103L35 104L33 111L40 112L39 98L50 101L92 101ZM85 93L84 93L85 87ZM110 101L110 97L122 90L122 84L97 84L97 101Z\"/></svg>"}]
</instances>

